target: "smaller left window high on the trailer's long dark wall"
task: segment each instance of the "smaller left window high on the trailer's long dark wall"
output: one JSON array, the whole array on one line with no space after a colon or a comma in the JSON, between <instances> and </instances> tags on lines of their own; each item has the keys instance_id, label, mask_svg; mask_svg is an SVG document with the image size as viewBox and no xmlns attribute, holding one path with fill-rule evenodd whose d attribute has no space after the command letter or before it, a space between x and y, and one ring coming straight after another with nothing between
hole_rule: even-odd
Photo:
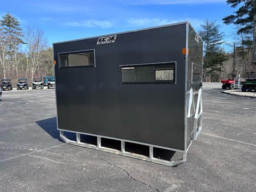
<instances>
[{"instance_id":1,"label":"smaller left window high on the trailer's long dark wall","mask_svg":"<svg viewBox=\"0 0 256 192\"><path fill-rule=\"evenodd\" d=\"M59 54L60 68L67 67L93 67L94 63L94 50L69 52Z\"/></svg>"}]
</instances>

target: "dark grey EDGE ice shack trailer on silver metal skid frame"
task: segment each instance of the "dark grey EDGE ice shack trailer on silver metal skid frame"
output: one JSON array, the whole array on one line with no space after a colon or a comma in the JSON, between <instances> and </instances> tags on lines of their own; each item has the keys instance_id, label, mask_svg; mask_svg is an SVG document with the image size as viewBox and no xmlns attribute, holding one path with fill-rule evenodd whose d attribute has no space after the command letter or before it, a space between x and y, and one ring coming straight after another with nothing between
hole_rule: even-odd
<instances>
[{"instance_id":1,"label":"dark grey EDGE ice shack trailer on silver metal skid frame","mask_svg":"<svg viewBox=\"0 0 256 192\"><path fill-rule=\"evenodd\" d=\"M186 161L202 128L203 42L189 22L54 43L53 50L63 141L169 166ZM103 145L109 139L119 147ZM129 152L131 143L147 155ZM182 158L159 159L157 149Z\"/></svg>"}]
</instances>

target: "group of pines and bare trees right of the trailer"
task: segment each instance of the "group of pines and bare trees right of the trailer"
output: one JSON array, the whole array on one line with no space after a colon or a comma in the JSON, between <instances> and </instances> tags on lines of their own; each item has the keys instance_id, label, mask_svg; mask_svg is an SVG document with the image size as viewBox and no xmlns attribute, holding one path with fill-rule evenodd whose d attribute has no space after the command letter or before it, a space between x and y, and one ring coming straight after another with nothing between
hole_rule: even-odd
<instances>
[{"instance_id":1,"label":"group of pines and bare trees right of the trailer","mask_svg":"<svg viewBox=\"0 0 256 192\"><path fill-rule=\"evenodd\" d=\"M223 44L225 35L215 21L205 20L199 35L204 41L203 81L219 82L227 74L244 74L256 71L256 1L228 0L227 4L236 8L234 14L223 18L226 25L236 26L235 42L231 45L233 52L226 52Z\"/></svg>"}]
</instances>

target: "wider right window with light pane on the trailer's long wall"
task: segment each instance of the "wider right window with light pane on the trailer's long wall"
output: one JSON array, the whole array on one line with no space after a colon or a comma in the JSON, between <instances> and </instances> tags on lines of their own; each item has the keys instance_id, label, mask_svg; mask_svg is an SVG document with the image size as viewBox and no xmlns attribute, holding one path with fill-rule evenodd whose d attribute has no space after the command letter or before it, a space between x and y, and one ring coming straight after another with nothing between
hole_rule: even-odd
<instances>
[{"instance_id":1,"label":"wider right window with light pane on the trailer's long wall","mask_svg":"<svg viewBox=\"0 0 256 192\"><path fill-rule=\"evenodd\" d=\"M175 83L175 62L121 66L121 83Z\"/></svg>"}]
</instances>

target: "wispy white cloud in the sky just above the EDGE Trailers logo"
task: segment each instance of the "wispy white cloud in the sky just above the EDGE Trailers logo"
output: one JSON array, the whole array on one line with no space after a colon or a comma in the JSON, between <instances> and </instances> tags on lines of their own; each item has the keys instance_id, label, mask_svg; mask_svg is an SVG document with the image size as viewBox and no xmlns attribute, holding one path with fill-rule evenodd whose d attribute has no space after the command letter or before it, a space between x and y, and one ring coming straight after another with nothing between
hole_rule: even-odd
<instances>
[{"instance_id":1,"label":"wispy white cloud in the sky just above the EDGE Trailers logo","mask_svg":"<svg viewBox=\"0 0 256 192\"><path fill-rule=\"evenodd\" d=\"M109 28L114 25L113 21L101 21L101 20L84 20L64 23L67 26L73 27L85 27L85 28Z\"/></svg>"}]
</instances>

